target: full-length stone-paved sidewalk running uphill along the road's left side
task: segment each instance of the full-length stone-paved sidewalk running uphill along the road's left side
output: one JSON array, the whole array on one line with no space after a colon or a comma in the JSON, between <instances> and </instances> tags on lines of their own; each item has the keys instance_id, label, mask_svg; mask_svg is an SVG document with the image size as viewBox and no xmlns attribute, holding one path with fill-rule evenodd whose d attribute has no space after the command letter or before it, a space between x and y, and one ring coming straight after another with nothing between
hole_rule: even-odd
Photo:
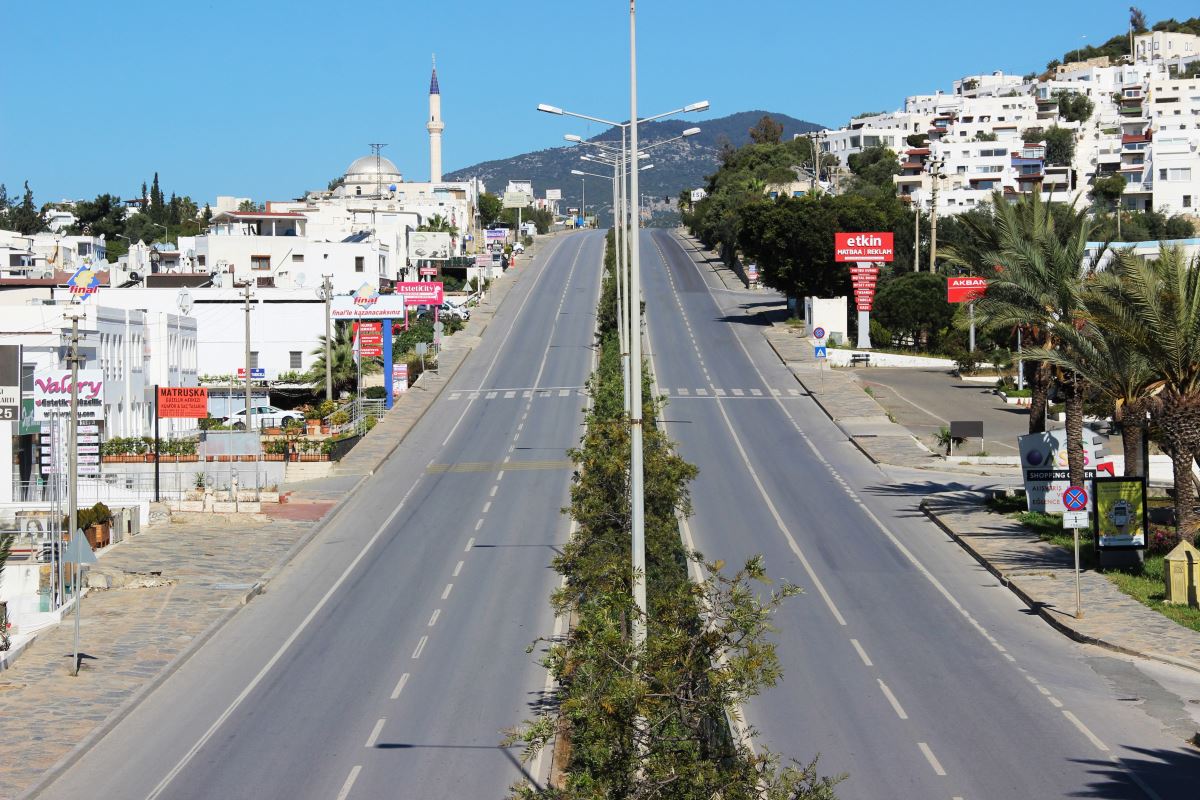
<instances>
[{"instance_id":1,"label":"full-length stone-paved sidewalk running uphill along the road's left side","mask_svg":"<svg viewBox=\"0 0 1200 800\"><path fill-rule=\"evenodd\" d=\"M0 799L23 796L48 770L68 766L263 590L400 446L520 277L497 282L467 327L446 339L440 374L425 373L329 477L283 487L288 503L264 515L175 515L91 567L113 588L83 600L79 675L67 674L70 619L0 672Z\"/></svg>"}]
</instances>

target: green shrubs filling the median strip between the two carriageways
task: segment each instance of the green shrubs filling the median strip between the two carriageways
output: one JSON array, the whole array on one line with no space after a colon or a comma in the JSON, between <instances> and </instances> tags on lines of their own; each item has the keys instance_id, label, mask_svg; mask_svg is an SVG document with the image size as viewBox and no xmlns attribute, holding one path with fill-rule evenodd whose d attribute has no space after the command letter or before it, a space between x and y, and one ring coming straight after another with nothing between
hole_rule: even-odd
<instances>
[{"instance_id":1,"label":"green shrubs filling the median strip between the two carriageways","mask_svg":"<svg viewBox=\"0 0 1200 800\"><path fill-rule=\"evenodd\" d=\"M610 236L610 254L611 254ZM611 278L611 258L606 258ZM611 279L601 291L600 357L588 381L593 407L580 446L566 511L577 533L554 559L565 578L552 604L571 627L548 643L546 667L558 681L548 710L510 735L526 757L558 740L565 754L559 786L514 788L517 798L600 800L671 798L826 800L840 778L817 774L816 760L781 768L764 751L737 739L727 718L774 685L781 672L768 640L778 606L798 591L782 584L763 591L762 559L733 575L719 561L689 553L678 519L690 513L689 482L696 468L676 455L655 425L658 401L642 371L647 644L637 650L632 604L629 519L629 423L622 402ZM689 563L707 576L692 582ZM560 734L565 733L565 738Z\"/></svg>"}]
</instances>

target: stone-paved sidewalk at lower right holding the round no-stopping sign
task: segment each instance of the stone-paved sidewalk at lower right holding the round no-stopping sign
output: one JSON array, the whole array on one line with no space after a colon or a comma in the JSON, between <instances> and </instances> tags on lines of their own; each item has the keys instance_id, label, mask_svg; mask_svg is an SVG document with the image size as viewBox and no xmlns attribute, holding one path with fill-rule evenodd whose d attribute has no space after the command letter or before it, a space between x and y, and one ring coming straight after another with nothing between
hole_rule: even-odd
<instances>
[{"instance_id":1,"label":"stone-paved sidewalk at lower right holding the round no-stopping sign","mask_svg":"<svg viewBox=\"0 0 1200 800\"><path fill-rule=\"evenodd\" d=\"M1025 603L1067 636L1111 650L1200 672L1200 632L1142 606L1108 578L1081 571L1075 619L1075 572L1069 553L1040 541L1014 519L991 513L976 492L925 498L922 510Z\"/></svg>"}]
</instances>

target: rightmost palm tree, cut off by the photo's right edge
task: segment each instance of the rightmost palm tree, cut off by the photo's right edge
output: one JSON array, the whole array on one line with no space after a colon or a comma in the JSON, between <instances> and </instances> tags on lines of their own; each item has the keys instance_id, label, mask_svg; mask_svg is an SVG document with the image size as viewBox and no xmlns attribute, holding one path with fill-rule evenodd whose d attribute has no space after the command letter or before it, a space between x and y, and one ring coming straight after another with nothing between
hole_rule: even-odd
<instances>
[{"instance_id":1,"label":"rightmost palm tree, cut off by the photo's right edge","mask_svg":"<svg viewBox=\"0 0 1200 800\"><path fill-rule=\"evenodd\" d=\"M1192 463L1200 452L1200 257L1165 245L1157 259L1118 252L1097 276L1090 306L1154 377L1150 413L1171 451L1176 524L1190 534L1198 521Z\"/></svg>"}]
</instances>

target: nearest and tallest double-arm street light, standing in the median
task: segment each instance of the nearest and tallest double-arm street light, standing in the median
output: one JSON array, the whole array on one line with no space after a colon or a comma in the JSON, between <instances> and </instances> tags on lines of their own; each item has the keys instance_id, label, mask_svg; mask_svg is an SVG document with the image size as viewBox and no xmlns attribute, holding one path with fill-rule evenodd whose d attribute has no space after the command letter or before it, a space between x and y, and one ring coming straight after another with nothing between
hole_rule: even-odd
<instances>
[{"instance_id":1,"label":"nearest and tallest double-arm street light, standing in the median","mask_svg":"<svg viewBox=\"0 0 1200 800\"><path fill-rule=\"evenodd\" d=\"M620 176L622 188L624 188L625 163L637 163L641 155L637 143L637 126L642 122L686 114L691 112L708 110L708 101L690 103L682 108L676 108L662 114L638 118L637 115L637 24L635 4L629 5L629 122L616 122L588 114L566 112L557 106L541 103L539 112L554 114L558 116L574 116L581 120L590 120L601 125L610 125L620 128L620 155L618 157L617 174ZM626 148L626 132L629 134ZM626 315L628 342L630 361L629 380L629 425L630 425L630 528L632 539L632 566L634 566L634 606L637 615L634 619L632 633L634 646L641 649L646 644L646 492L644 492L644 453L643 453L643 429L642 429L642 344L641 344L641 314L635 309L641 308L637 299L641 296L642 261L638 237L641 212L638 209L638 169L629 170L629 216L623 219L628 224L629 231L629 279L626 282ZM624 207L622 209L624 211ZM622 215L625 216L624 213ZM618 230L623 225L617 225ZM618 246L618 254L624 249ZM636 324L635 324L636 323Z\"/></svg>"}]
</instances>

